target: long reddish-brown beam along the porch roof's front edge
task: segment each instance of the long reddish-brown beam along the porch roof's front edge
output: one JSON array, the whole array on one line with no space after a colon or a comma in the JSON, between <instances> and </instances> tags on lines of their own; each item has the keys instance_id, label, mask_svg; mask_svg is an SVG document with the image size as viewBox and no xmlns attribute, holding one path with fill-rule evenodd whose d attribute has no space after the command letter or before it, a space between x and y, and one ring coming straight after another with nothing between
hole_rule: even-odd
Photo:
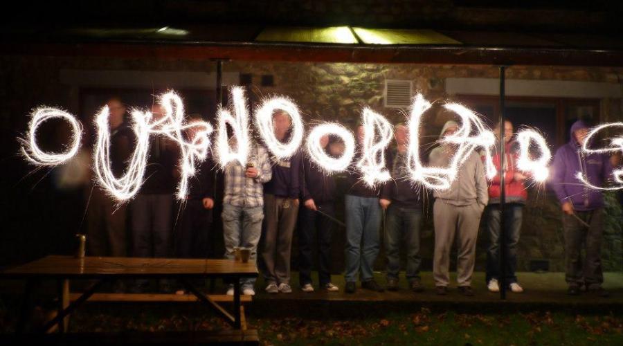
<instances>
[{"instance_id":1,"label":"long reddish-brown beam along the porch roof's front edge","mask_svg":"<svg viewBox=\"0 0 623 346\"><path fill-rule=\"evenodd\" d=\"M0 54L281 62L623 66L623 51L620 50L469 46L9 42L0 44Z\"/></svg>"}]
</instances>

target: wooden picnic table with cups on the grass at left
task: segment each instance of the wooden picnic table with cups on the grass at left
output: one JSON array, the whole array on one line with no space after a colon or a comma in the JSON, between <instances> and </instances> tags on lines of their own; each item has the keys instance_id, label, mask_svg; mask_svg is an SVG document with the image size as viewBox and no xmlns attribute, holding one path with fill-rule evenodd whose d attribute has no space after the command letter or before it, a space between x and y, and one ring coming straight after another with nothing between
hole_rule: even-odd
<instances>
[{"instance_id":1,"label":"wooden picnic table with cups on the grass at left","mask_svg":"<svg viewBox=\"0 0 623 346\"><path fill-rule=\"evenodd\" d=\"M17 332L24 331L30 313L33 289L40 280L56 280L59 304L57 316L46 322L43 331L58 325L62 333L66 327L66 316L86 302L105 284L117 279L174 279L229 322L235 329L241 329L240 279L257 277L258 268L252 262L212 259L172 259L136 257L73 257L51 255L0 272L0 279L26 280L24 302L17 324ZM233 283L233 315L221 307L210 295L201 293L192 285L193 279L221 277ZM69 280L96 280L78 298L70 302ZM244 318L244 316L242 316Z\"/></svg>"}]
</instances>

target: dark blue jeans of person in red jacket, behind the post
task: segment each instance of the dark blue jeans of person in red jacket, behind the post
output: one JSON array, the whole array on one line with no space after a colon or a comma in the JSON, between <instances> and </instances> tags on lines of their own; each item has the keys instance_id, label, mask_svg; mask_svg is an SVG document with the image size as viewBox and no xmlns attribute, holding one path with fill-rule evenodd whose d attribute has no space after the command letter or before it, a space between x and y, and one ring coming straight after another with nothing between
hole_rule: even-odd
<instances>
[{"instance_id":1,"label":"dark blue jeans of person in red jacket, behind the post","mask_svg":"<svg viewBox=\"0 0 623 346\"><path fill-rule=\"evenodd\" d=\"M489 246L487 247L487 275L485 280L498 280L500 277L500 205L490 204L487 206L487 233ZM506 283L517 282L515 271L517 269L517 244L521 232L521 220L523 204L507 203L504 209L504 226L506 228Z\"/></svg>"}]
</instances>

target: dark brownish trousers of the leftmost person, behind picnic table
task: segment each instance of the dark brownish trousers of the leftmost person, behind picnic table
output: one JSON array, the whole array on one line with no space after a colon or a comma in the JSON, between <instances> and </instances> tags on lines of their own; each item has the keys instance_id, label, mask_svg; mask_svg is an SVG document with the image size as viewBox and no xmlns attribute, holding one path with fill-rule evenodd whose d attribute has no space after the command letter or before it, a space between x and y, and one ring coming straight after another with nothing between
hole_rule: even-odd
<instances>
[{"instance_id":1,"label":"dark brownish trousers of the leftmost person, behind picnic table","mask_svg":"<svg viewBox=\"0 0 623 346\"><path fill-rule=\"evenodd\" d=\"M87 254L89 256L127 256L127 206L93 187L87 209Z\"/></svg>"}]
</instances>

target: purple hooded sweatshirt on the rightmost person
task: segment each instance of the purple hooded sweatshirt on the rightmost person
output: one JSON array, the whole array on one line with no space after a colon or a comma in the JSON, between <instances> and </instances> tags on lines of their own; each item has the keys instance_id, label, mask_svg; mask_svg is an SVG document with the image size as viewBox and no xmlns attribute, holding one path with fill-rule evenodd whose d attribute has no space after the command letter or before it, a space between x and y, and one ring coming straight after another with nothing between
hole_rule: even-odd
<instances>
[{"instance_id":1,"label":"purple hooded sweatshirt on the rightmost person","mask_svg":"<svg viewBox=\"0 0 623 346\"><path fill-rule=\"evenodd\" d=\"M612 174L612 165L607 155L581 153L581 145L575 139L574 133L586 128L588 127L581 120L573 123L570 130L571 140L557 150L552 164L552 188L560 203L570 201L578 211L602 208L604 195L600 190L589 188L577 179L577 173L582 172L589 183L597 186L603 186Z\"/></svg>"}]
</instances>

